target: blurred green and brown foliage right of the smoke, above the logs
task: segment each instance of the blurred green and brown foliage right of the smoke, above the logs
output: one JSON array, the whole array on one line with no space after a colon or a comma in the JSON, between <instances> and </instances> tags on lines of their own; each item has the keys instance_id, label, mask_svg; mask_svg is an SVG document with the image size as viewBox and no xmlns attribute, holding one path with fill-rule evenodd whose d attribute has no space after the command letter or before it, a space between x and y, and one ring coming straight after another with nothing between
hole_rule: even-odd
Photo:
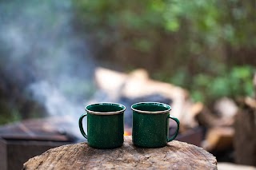
<instances>
[{"instance_id":1,"label":"blurred green and brown foliage right of the smoke, above the logs","mask_svg":"<svg viewBox=\"0 0 256 170\"><path fill-rule=\"evenodd\" d=\"M151 69L154 78L189 89L195 101L253 93L253 69L244 64L253 65L254 54L241 64L236 52L256 48L254 1L74 0L74 9L103 46L125 44L124 53L144 58L128 55L127 68Z\"/></svg>"}]
</instances>

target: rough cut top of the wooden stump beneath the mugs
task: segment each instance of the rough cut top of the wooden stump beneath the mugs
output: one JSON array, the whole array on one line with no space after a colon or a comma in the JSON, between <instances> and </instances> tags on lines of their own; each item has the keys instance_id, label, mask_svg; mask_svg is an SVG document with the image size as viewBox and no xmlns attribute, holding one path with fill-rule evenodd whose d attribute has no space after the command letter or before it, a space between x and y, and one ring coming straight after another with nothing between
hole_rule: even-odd
<instances>
[{"instance_id":1,"label":"rough cut top of the wooden stump beneath the mugs","mask_svg":"<svg viewBox=\"0 0 256 170\"><path fill-rule=\"evenodd\" d=\"M23 169L217 169L203 148L173 140L163 148L137 148L125 136L121 148L96 149L86 143L52 148L28 160Z\"/></svg>"}]
</instances>

